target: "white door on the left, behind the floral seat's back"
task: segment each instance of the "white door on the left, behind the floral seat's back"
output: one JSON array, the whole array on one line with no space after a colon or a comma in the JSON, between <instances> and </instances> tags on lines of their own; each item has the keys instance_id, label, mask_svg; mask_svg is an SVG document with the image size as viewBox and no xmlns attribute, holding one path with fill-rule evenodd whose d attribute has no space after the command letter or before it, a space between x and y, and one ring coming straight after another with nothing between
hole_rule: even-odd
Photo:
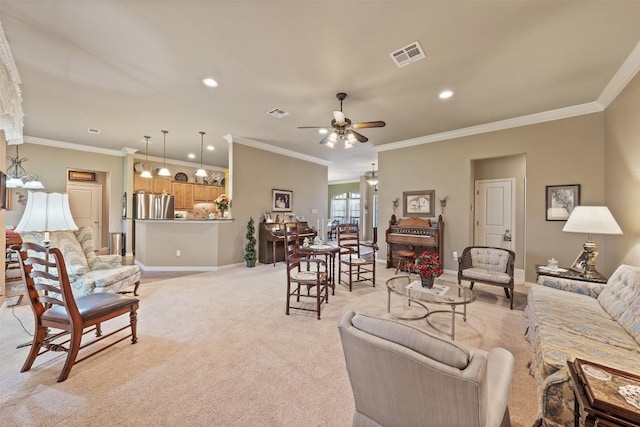
<instances>
[{"instance_id":1,"label":"white door on the left, behind the floral seat's back","mask_svg":"<svg viewBox=\"0 0 640 427\"><path fill-rule=\"evenodd\" d=\"M102 186L100 184L67 184L71 216L78 227L93 229L93 248L102 247Z\"/></svg>"}]
</instances>

